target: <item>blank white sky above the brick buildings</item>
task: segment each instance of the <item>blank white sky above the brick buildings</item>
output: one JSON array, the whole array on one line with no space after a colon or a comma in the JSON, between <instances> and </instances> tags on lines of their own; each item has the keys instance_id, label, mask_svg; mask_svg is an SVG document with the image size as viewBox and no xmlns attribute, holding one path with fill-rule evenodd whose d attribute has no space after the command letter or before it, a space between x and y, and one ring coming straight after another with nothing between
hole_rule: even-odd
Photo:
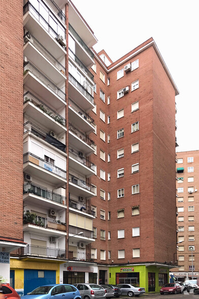
<instances>
[{"instance_id":1,"label":"blank white sky above the brick buildings","mask_svg":"<svg viewBox=\"0 0 199 299\"><path fill-rule=\"evenodd\" d=\"M180 92L177 152L199 149L199 0L72 1L113 62L153 37Z\"/></svg>"}]
</instances>

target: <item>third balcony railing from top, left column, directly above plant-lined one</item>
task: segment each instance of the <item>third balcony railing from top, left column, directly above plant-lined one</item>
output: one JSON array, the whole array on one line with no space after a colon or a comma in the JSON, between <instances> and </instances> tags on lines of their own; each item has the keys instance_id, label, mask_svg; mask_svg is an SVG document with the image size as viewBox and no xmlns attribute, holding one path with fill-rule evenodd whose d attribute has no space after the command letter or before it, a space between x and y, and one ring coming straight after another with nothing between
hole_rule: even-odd
<instances>
[{"instance_id":1,"label":"third balcony railing from top, left column, directly above plant-lined one","mask_svg":"<svg viewBox=\"0 0 199 299\"><path fill-rule=\"evenodd\" d=\"M24 67L24 75L27 71L32 73L36 78L38 78L44 85L46 85L49 89L51 89L58 97L60 97L63 101L65 101L65 93L57 87L52 81L50 81L42 72L40 72L36 67L34 67L30 62L25 63Z\"/></svg>"}]
</instances>

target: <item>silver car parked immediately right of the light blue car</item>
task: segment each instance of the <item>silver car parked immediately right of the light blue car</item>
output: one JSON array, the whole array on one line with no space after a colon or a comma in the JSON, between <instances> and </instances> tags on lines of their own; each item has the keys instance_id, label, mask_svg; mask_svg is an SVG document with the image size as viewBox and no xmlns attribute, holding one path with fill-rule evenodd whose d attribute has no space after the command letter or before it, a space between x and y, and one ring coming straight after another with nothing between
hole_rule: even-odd
<instances>
[{"instance_id":1,"label":"silver car parked immediately right of the light blue car","mask_svg":"<svg viewBox=\"0 0 199 299\"><path fill-rule=\"evenodd\" d=\"M106 292L103 287L94 283L75 283L75 287L80 292L82 299L105 298Z\"/></svg>"}]
</instances>

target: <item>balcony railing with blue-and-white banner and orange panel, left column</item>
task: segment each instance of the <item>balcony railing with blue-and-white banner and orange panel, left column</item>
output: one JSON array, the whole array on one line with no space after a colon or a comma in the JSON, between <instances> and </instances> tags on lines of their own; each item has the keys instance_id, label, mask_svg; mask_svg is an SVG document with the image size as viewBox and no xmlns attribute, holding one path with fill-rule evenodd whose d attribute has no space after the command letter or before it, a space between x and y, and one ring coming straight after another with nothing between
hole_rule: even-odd
<instances>
[{"instance_id":1,"label":"balcony railing with blue-and-white banner and orange panel, left column","mask_svg":"<svg viewBox=\"0 0 199 299\"><path fill-rule=\"evenodd\" d=\"M45 170L48 170L64 179L67 177L67 172L57 166L54 166L53 164L39 158L36 155L33 155L31 153L26 153L23 155L23 164L30 162L32 164L35 164Z\"/></svg>"}]
</instances>

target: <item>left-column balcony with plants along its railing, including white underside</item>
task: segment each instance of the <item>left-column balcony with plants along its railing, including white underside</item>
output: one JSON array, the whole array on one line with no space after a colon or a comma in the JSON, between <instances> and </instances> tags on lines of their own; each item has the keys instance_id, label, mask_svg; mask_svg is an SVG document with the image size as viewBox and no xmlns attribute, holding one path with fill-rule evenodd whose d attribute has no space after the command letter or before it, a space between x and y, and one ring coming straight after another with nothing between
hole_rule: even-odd
<instances>
[{"instance_id":1,"label":"left-column balcony with plants along its railing, including white underside","mask_svg":"<svg viewBox=\"0 0 199 299\"><path fill-rule=\"evenodd\" d=\"M23 95L23 111L25 116L39 119L40 124L47 128L53 128L57 135L65 132L65 118L47 106L36 96L27 92Z\"/></svg>"}]
</instances>

